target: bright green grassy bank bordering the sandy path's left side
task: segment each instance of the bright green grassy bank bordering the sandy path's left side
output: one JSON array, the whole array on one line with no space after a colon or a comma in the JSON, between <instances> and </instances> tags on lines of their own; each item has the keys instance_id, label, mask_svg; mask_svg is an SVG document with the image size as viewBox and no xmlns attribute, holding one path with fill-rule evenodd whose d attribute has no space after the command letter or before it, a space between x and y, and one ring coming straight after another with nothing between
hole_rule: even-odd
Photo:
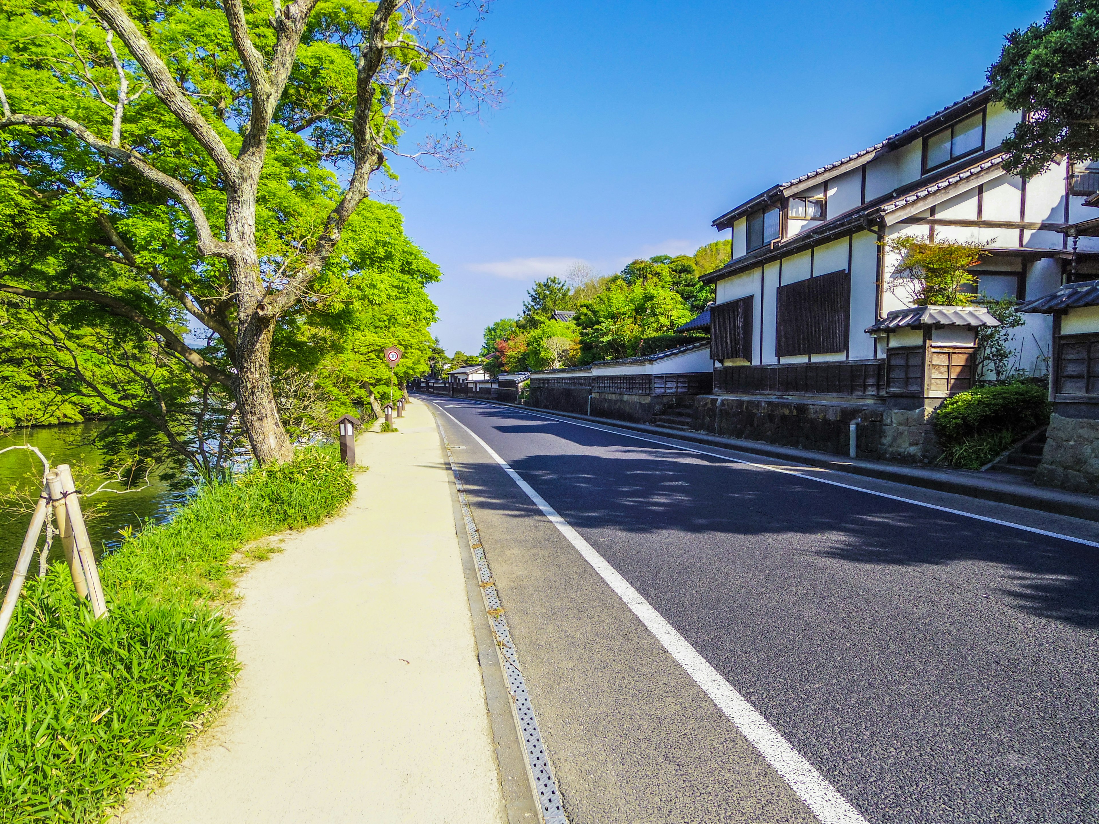
<instances>
[{"instance_id":1,"label":"bright green grassy bank bordering the sandy path's left side","mask_svg":"<svg viewBox=\"0 0 1099 824\"><path fill-rule=\"evenodd\" d=\"M102 561L106 621L76 600L64 565L29 581L0 648L0 821L98 822L163 769L236 672L219 611L232 555L321 522L353 491L317 448L203 489Z\"/></svg>"}]
</instances>

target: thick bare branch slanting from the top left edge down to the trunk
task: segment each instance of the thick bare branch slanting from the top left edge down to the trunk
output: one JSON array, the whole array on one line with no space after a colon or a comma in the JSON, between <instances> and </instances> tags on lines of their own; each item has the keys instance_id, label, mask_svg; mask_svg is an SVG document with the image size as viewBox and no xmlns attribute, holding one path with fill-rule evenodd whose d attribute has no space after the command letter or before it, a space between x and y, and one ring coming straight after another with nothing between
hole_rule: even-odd
<instances>
[{"instance_id":1,"label":"thick bare branch slanting from the top left edge down to the trunk","mask_svg":"<svg viewBox=\"0 0 1099 824\"><path fill-rule=\"evenodd\" d=\"M225 181L235 187L240 179L236 159L230 154L213 126L191 104L156 49L122 9L122 4L118 0L89 0L89 5L118 33L130 49L130 54L145 69L154 93L210 154Z\"/></svg>"}]
</instances>

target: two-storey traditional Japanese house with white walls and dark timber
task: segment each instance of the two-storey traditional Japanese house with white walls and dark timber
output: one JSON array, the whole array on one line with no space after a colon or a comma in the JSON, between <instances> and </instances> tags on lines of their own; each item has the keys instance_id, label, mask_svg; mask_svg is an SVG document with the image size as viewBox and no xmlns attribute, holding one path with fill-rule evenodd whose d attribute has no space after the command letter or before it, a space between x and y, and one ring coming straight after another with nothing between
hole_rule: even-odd
<instances>
[{"instance_id":1,"label":"two-storey traditional Japanese house with white walls and dark timber","mask_svg":"<svg viewBox=\"0 0 1099 824\"><path fill-rule=\"evenodd\" d=\"M991 97L981 89L713 221L732 235L732 259L703 277L717 285L714 393L699 399L697 426L845 450L847 422L858 419L868 426L862 452L926 458L926 414L977 377L967 353L991 319L950 307L936 316L906 314L888 241L985 244L989 254L973 272L990 298L1025 300L1068 277L1099 275L1099 238L1079 238L1070 271L1064 234L1095 214L1084 201L1099 189L1099 171L1065 158L1035 178L1008 174L1001 143L1020 114ZM1029 315L1011 341L1014 368L1047 371L1047 315ZM932 386L945 392L926 394Z\"/></svg>"}]
</instances>

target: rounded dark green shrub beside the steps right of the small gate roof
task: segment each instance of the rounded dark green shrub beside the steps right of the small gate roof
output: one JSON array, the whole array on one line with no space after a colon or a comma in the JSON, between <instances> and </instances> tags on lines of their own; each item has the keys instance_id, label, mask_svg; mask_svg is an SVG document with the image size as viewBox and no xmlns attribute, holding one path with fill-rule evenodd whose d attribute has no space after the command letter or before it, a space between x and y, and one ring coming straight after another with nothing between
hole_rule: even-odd
<instances>
[{"instance_id":1,"label":"rounded dark green shrub beside the steps right of the small gate roof","mask_svg":"<svg viewBox=\"0 0 1099 824\"><path fill-rule=\"evenodd\" d=\"M1048 392L1043 386L1018 381L977 387L947 398L935 410L932 424L948 463L979 469L1007 449L1007 445L1002 445L1004 442L1010 445L1046 425L1051 409ZM989 455L997 446L1000 446L998 452Z\"/></svg>"}]
</instances>

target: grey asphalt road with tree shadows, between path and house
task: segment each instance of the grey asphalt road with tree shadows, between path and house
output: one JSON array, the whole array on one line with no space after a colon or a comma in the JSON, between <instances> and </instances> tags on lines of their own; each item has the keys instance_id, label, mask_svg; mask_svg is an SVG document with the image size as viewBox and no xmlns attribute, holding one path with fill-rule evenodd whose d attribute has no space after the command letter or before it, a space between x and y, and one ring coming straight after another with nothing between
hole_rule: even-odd
<instances>
[{"instance_id":1,"label":"grey asphalt road with tree shadows, between path and house","mask_svg":"<svg viewBox=\"0 0 1099 824\"><path fill-rule=\"evenodd\" d=\"M425 400L507 460L867 821L1099 821L1099 549L862 490L1089 541L1099 525ZM462 447L570 822L814 821L511 478L439 416Z\"/></svg>"}]
</instances>

